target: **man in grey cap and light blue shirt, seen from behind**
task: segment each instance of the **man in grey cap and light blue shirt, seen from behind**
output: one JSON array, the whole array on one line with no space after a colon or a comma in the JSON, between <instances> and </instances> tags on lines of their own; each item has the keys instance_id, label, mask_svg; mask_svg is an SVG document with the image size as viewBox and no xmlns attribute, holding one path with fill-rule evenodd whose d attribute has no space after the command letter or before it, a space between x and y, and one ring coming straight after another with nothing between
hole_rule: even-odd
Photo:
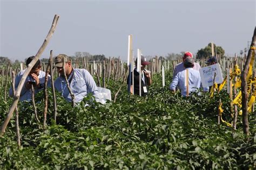
<instances>
[{"instance_id":1,"label":"man in grey cap and light blue shirt, seen from behind","mask_svg":"<svg viewBox=\"0 0 256 170\"><path fill-rule=\"evenodd\" d=\"M179 72L170 84L170 90L176 90L178 87L181 91L181 95L189 96L192 91L196 91L202 87L201 77L198 70L194 70L194 59L186 58L184 60L185 70ZM208 91L208 87L204 88L204 91Z\"/></svg>"}]
</instances>

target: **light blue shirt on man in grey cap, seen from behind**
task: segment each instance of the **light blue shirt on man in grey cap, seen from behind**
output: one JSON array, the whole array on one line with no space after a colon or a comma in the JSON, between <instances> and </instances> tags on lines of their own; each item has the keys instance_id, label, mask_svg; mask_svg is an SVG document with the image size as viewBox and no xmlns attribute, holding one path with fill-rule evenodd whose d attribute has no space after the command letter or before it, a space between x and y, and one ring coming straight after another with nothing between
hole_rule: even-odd
<instances>
[{"instance_id":1,"label":"light blue shirt on man in grey cap, seen from behind","mask_svg":"<svg viewBox=\"0 0 256 170\"><path fill-rule=\"evenodd\" d=\"M198 70L194 70L193 68L186 68L188 69L188 94L191 91L196 91L200 87L202 87L201 77ZM182 72L179 72L174 78L172 83L170 84L170 90L175 90L176 87L179 87L181 91L181 95L186 96L186 69ZM208 91L207 88L203 88L204 91Z\"/></svg>"}]
</instances>

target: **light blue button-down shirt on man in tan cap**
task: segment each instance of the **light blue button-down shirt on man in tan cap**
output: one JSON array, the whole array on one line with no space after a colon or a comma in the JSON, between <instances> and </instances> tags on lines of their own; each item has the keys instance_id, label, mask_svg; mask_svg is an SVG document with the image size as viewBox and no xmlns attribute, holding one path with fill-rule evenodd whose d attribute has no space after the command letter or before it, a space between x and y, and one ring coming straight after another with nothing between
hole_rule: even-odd
<instances>
[{"instance_id":1,"label":"light blue button-down shirt on man in tan cap","mask_svg":"<svg viewBox=\"0 0 256 170\"><path fill-rule=\"evenodd\" d=\"M72 75L73 74L73 75ZM75 96L75 103L79 103L88 94L92 93L96 98L98 97L98 89L95 81L91 74L85 69L73 69L69 79L70 88ZM59 76L55 82L54 86L57 91L62 93L62 96L66 101L71 102L72 98L69 93L69 89L66 86L66 80L64 76Z\"/></svg>"}]
</instances>

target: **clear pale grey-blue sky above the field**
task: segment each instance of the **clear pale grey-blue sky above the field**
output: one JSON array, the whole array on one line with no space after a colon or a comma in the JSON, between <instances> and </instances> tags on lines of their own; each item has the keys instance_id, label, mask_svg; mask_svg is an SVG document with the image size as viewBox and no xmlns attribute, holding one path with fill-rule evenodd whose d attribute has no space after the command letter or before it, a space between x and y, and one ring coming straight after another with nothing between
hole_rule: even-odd
<instances>
[{"instance_id":1,"label":"clear pale grey-blue sky above the field","mask_svg":"<svg viewBox=\"0 0 256 170\"><path fill-rule=\"evenodd\" d=\"M247 48L256 23L255 0L77 1L0 0L0 56L36 55L54 16L56 31L41 58L88 52L127 59L128 36L145 56L196 54L209 42L234 56ZM250 42L249 42L250 43Z\"/></svg>"}]
</instances>

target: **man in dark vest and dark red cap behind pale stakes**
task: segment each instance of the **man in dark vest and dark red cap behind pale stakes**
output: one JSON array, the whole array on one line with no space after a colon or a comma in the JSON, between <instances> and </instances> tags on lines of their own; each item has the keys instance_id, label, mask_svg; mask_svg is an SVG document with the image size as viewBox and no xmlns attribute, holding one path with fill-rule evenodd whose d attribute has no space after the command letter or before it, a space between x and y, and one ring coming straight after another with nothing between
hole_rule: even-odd
<instances>
[{"instance_id":1,"label":"man in dark vest and dark red cap behind pale stakes","mask_svg":"<svg viewBox=\"0 0 256 170\"><path fill-rule=\"evenodd\" d=\"M137 65L137 59L136 59L136 65ZM141 70L142 70L142 86L141 86L141 91L142 91L142 96L146 96L149 93L149 86L152 84L152 79L151 79L151 75L150 75L150 71L145 69L146 65L149 65L150 62L146 61L146 58L144 56L141 56ZM136 94L139 95L139 73L137 68L135 67L134 70L134 85L132 84L132 73L131 75L131 87L130 87L130 91L131 94ZM129 84L129 77L127 77L127 84ZM134 91L132 91L134 86Z\"/></svg>"}]
</instances>

